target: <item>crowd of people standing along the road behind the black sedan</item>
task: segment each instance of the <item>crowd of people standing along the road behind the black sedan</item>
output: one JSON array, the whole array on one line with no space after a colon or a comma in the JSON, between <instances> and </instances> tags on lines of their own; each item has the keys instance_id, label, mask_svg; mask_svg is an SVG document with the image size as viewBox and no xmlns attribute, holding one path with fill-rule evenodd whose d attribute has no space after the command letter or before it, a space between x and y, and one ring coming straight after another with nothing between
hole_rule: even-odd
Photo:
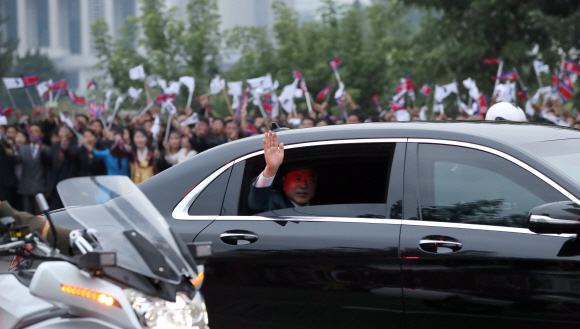
<instances>
[{"instance_id":1,"label":"crowd of people standing along the road behind the black sedan","mask_svg":"<svg viewBox=\"0 0 580 329\"><path fill-rule=\"evenodd\" d=\"M266 133L270 124L280 127L309 128L314 126L363 122L398 121L394 110L372 111L366 115L345 95L350 108L343 115L333 115L328 103L314 103L313 112L280 113L278 117L257 116L243 102L236 120L232 115L213 116L208 99L202 96L195 108L180 109L171 123L162 123L160 108L152 106L137 117L116 116L105 120L90 120L85 114L71 115L61 122L53 108L35 108L31 115L16 112L16 122L0 124L0 200L8 200L16 209L38 214L35 195L44 193L52 209L61 208L56 185L67 178L95 175L126 175L136 184L177 165L196 154L247 137ZM494 102L492 101L492 104ZM563 109L559 100L544 97L533 103L534 116L528 121L580 128L580 121ZM407 107L406 120L425 120L424 111ZM197 113L194 124L182 124ZM282 111L281 111L282 112ZM423 113L422 113L423 112ZM368 112L367 112L368 113ZM456 117L433 114L430 120L484 120L484 115L461 112ZM170 131L166 134L166 128Z\"/></svg>"}]
</instances>

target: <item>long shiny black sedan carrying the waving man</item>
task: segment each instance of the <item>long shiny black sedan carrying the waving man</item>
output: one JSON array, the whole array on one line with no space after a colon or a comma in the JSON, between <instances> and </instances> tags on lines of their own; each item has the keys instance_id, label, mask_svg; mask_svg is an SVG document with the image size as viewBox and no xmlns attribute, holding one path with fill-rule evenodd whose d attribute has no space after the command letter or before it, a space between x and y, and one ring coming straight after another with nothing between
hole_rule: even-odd
<instances>
[{"instance_id":1,"label":"long shiny black sedan carrying the waving man","mask_svg":"<svg viewBox=\"0 0 580 329\"><path fill-rule=\"evenodd\" d=\"M139 185L185 241L213 242L202 289L212 328L580 324L580 131L280 131L280 170L314 167L316 194L254 213L262 139L216 147ZM272 189L283 193L278 176Z\"/></svg>"}]
</instances>

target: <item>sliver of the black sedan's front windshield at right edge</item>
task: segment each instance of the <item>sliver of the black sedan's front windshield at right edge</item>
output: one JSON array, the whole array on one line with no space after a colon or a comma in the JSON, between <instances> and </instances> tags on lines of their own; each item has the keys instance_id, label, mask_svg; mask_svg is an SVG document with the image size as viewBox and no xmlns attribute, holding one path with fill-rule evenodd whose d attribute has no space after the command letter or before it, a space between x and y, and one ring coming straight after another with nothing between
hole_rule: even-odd
<instances>
[{"instance_id":1,"label":"sliver of the black sedan's front windshield at right edge","mask_svg":"<svg viewBox=\"0 0 580 329\"><path fill-rule=\"evenodd\" d=\"M522 145L580 184L580 139L560 139Z\"/></svg>"}]
</instances>

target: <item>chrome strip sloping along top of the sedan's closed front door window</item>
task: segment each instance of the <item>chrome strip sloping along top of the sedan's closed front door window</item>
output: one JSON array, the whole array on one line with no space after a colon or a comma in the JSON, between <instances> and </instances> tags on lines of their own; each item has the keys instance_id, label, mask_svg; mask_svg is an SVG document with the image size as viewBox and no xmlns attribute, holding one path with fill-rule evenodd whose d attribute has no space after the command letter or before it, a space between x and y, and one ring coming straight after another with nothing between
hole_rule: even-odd
<instances>
[{"instance_id":1,"label":"chrome strip sloping along top of the sedan's closed front door window","mask_svg":"<svg viewBox=\"0 0 580 329\"><path fill-rule=\"evenodd\" d=\"M514 158L513 156L511 156L507 153L493 149L491 147L487 147L487 146L483 146L483 145L479 145L479 144L452 141L452 140L443 140L443 139L409 138L408 142L409 143L419 143L419 144L442 144L442 145L461 146L461 147L476 149L476 150L480 150L480 151L484 151L487 153L497 155L497 156L504 158L504 159L514 163L515 165L520 166L521 168L527 170L528 172L530 172L534 176L536 176L539 179L546 182L548 185L552 186L558 192L562 193L564 196L566 196L571 201L574 201L574 202L580 204L580 200L578 198L576 198L572 193L568 192L568 190L564 189L562 186L558 185L556 182L554 182L548 176L542 174L541 172L539 172L538 170L536 170L532 166L526 164L525 162L523 162L517 158Z\"/></svg>"}]
</instances>

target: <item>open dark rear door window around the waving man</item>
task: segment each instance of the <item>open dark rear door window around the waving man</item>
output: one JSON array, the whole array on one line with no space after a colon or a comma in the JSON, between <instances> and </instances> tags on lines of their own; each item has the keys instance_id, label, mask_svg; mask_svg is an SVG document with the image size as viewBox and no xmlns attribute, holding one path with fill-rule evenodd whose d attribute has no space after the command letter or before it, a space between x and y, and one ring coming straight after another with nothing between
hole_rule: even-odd
<instances>
[{"instance_id":1,"label":"open dark rear door window around the waving man","mask_svg":"<svg viewBox=\"0 0 580 329\"><path fill-rule=\"evenodd\" d=\"M265 167L264 156L246 161L240 213L261 216L387 217L387 186L395 144L340 144L287 149L272 186L260 194L267 206L252 209L253 180ZM312 169L315 190L307 204L285 188L285 179L297 169ZM312 178L310 178L312 179ZM274 199L274 201L272 201ZM269 202L269 203L268 203Z\"/></svg>"}]
</instances>

